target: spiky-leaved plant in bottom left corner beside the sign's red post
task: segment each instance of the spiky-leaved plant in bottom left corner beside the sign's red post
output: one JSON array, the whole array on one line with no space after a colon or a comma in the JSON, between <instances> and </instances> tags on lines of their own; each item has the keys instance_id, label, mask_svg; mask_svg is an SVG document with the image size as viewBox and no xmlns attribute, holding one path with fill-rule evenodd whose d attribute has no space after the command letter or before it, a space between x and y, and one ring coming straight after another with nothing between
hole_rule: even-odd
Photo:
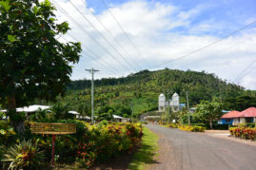
<instances>
[{"instance_id":1,"label":"spiky-leaved plant in bottom left corner beside the sign's red post","mask_svg":"<svg viewBox=\"0 0 256 170\"><path fill-rule=\"evenodd\" d=\"M44 154L39 151L37 142L23 141L10 146L4 155L4 166L8 169L38 169L42 167Z\"/></svg>"}]
</instances>

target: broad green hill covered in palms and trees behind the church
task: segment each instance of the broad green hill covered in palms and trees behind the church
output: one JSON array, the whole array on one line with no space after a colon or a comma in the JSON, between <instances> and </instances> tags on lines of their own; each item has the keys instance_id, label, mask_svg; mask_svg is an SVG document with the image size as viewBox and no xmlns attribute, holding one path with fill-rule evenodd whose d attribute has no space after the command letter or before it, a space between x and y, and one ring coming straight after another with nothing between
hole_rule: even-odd
<instances>
[{"instance_id":1,"label":"broad green hill covered in palms and trees behind the church","mask_svg":"<svg viewBox=\"0 0 256 170\"><path fill-rule=\"evenodd\" d=\"M256 105L255 91L246 91L244 87L227 84L214 74L196 71L163 69L157 71L143 70L123 78L108 78L95 81L95 109L98 113L109 110L115 114L129 116L156 110L158 96L167 90L177 92L181 103L186 103L186 91L189 91L191 106L202 100L218 101L226 109L243 109ZM246 99L246 103L244 99ZM62 102L73 109L90 114L90 80L73 81ZM243 103L242 105L239 103Z\"/></svg>"}]
</instances>

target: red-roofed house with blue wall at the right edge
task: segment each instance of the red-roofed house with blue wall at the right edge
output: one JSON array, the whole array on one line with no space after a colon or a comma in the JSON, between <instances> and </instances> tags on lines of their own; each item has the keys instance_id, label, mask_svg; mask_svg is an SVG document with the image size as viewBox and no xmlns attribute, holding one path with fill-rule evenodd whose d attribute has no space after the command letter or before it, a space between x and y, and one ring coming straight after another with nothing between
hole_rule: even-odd
<instances>
[{"instance_id":1,"label":"red-roofed house with blue wall at the right edge","mask_svg":"<svg viewBox=\"0 0 256 170\"><path fill-rule=\"evenodd\" d=\"M233 125L238 123L256 123L256 107L249 107L242 112L236 110L230 111L223 115L218 123Z\"/></svg>"}]
</instances>

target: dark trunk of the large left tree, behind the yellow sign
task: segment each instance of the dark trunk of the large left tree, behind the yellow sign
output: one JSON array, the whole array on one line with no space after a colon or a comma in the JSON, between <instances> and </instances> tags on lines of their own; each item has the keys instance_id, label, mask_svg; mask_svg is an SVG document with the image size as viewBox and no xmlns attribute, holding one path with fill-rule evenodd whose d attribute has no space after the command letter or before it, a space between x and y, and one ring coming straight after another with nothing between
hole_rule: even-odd
<instances>
[{"instance_id":1,"label":"dark trunk of the large left tree, behind the yellow sign","mask_svg":"<svg viewBox=\"0 0 256 170\"><path fill-rule=\"evenodd\" d=\"M15 114L16 113L16 97L13 94L12 96L8 97L7 101L7 109L8 109L8 114L10 118L10 123L14 127L15 131L18 133L23 133L25 130L25 123L23 120L15 119Z\"/></svg>"}]
</instances>

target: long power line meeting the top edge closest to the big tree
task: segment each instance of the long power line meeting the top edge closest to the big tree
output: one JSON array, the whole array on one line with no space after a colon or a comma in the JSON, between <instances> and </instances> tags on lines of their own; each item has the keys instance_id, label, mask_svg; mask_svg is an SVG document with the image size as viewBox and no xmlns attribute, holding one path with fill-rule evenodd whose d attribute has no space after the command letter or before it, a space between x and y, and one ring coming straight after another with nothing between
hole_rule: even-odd
<instances>
[{"instance_id":1,"label":"long power line meeting the top edge closest to the big tree","mask_svg":"<svg viewBox=\"0 0 256 170\"><path fill-rule=\"evenodd\" d=\"M57 9L60 9L60 11L61 11L64 15L66 15L72 23L74 23L76 26L78 26L79 28L81 28L81 30L83 30L83 31L89 36L89 38L90 38L94 43L96 43L98 46L102 47L102 48L108 53L109 56L111 56L116 62L118 62L121 66L123 66L123 67L124 67L125 69L127 69L128 72L129 72L128 67L127 67L127 66L124 66L123 63L120 62L119 60L117 60L116 57L114 57L114 56L108 51L108 49L107 49L106 47L103 47L98 41L96 41L96 40L89 34L88 30L86 30L85 28L81 27L81 26L79 25L79 23L77 23L77 21L76 21L75 19L73 19L73 18L69 15L69 13L68 13L65 9L63 9L55 0L52 0L52 1L54 2L55 5L58 6Z\"/></svg>"}]
</instances>

